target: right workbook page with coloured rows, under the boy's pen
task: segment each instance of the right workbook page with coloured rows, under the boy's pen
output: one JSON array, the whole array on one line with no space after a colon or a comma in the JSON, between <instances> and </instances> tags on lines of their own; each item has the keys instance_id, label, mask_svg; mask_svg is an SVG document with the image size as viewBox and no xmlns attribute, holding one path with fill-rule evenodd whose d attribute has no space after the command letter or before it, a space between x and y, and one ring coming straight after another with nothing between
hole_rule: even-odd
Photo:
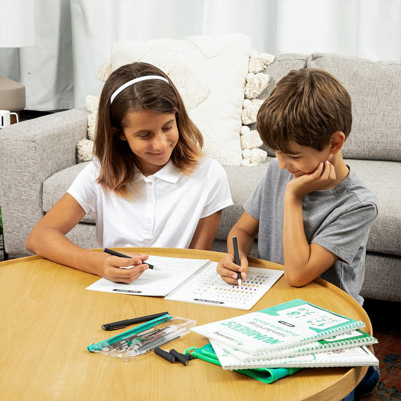
<instances>
[{"instance_id":1,"label":"right workbook page with coloured rows, under the boy's pen","mask_svg":"<svg viewBox=\"0 0 401 401\"><path fill-rule=\"evenodd\" d=\"M218 263L211 262L208 269L177 288L166 299L226 308L249 310L283 275L282 270L249 267L243 285L231 285L216 273Z\"/></svg>"}]
</instances>

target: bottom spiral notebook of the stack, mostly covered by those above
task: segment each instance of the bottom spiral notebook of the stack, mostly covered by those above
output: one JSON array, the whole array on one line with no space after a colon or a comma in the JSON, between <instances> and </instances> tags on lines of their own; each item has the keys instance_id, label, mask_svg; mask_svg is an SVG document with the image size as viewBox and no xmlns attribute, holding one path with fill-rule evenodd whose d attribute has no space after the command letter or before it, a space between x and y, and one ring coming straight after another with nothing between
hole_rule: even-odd
<instances>
[{"instance_id":1,"label":"bottom spiral notebook of the stack, mostly covered by those above","mask_svg":"<svg viewBox=\"0 0 401 401\"><path fill-rule=\"evenodd\" d=\"M224 348L224 345L211 341L223 369L258 369L278 367L320 367L320 366L373 366L378 359L365 347L329 350L322 353L295 355L286 358L265 359L244 362Z\"/></svg>"}]
</instances>

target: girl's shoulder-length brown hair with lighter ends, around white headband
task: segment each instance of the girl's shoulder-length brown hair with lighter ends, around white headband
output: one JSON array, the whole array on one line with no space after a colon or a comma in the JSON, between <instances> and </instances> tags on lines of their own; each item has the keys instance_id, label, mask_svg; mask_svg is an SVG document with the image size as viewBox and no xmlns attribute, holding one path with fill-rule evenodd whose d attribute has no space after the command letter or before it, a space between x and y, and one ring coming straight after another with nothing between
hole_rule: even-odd
<instances>
[{"instance_id":1,"label":"girl's shoulder-length brown hair with lighter ends, around white headband","mask_svg":"<svg viewBox=\"0 0 401 401\"><path fill-rule=\"evenodd\" d=\"M128 86L110 104L111 95L126 82L147 75L159 75ZM190 173L196 166L203 147L202 134L189 118L181 96L171 80L157 67L147 63L132 63L115 70L100 94L93 154L100 162L97 178L103 187L118 195L131 197L130 188L138 162L127 141L119 138L128 112L149 110L175 114L179 138L171 154L171 161L180 171ZM113 130L114 128L114 130Z\"/></svg>"}]
</instances>

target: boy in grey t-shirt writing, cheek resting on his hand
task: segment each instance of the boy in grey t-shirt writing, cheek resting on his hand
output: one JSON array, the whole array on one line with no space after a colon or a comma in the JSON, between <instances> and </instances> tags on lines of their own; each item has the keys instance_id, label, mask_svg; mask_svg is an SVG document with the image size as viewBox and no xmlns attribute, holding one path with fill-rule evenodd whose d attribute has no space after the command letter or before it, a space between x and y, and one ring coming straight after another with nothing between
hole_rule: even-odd
<instances>
[{"instance_id":1,"label":"boy in grey t-shirt writing, cheek resting on his hand","mask_svg":"<svg viewBox=\"0 0 401 401\"><path fill-rule=\"evenodd\" d=\"M351 124L350 96L331 74L293 70L277 83L257 117L276 159L230 231L229 254L217 267L224 281L237 284L237 272L246 278L247 256L259 234L258 257L283 264L288 284L299 287L320 277L363 304L359 291L377 198L342 158ZM234 263L234 236L241 266ZM346 399L371 392L376 370L369 367Z\"/></svg>"}]
</instances>

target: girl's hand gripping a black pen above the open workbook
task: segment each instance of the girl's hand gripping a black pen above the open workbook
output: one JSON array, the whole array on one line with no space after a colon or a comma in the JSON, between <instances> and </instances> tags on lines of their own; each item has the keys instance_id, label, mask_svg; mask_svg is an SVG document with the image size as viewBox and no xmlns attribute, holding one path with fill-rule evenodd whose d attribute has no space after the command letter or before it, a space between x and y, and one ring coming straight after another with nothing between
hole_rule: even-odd
<instances>
[{"instance_id":1,"label":"girl's hand gripping a black pen above the open workbook","mask_svg":"<svg viewBox=\"0 0 401 401\"><path fill-rule=\"evenodd\" d=\"M146 263L143 263L149 255L129 254L129 256L132 256L132 258L107 256L101 268L101 276L117 283L132 283L149 268Z\"/></svg>"}]
</instances>

